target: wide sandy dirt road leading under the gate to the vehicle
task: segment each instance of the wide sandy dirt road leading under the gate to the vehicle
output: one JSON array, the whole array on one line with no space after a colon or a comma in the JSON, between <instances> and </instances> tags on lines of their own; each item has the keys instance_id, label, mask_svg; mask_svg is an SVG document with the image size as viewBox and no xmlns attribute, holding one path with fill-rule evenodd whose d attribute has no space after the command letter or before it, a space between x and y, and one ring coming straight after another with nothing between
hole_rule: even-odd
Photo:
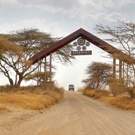
<instances>
[{"instance_id":1,"label":"wide sandy dirt road leading under the gate to the vehicle","mask_svg":"<svg viewBox=\"0 0 135 135\"><path fill-rule=\"evenodd\" d=\"M0 113L0 135L135 135L135 112L71 92L43 112Z\"/></svg>"}]
</instances>

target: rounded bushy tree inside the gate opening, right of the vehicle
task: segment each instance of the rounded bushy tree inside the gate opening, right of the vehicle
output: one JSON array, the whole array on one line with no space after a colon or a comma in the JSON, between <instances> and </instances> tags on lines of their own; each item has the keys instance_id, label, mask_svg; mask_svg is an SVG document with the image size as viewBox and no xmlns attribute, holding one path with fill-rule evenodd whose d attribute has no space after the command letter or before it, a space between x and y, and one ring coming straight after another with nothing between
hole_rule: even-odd
<instances>
[{"instance_id":1,"label":"rounded bushy tree inside the gate opening, right of the vehicle","mask_svg":"<svg viewBox=\"0 0 135 135\"><path fill-rule=\"evenodd\" d=\"M103 86L108 85L111 68L109 64L93 62L88 66L88 78L83 80L83 82L87 87L101 89Z\"/></svg>"}]
</instances>

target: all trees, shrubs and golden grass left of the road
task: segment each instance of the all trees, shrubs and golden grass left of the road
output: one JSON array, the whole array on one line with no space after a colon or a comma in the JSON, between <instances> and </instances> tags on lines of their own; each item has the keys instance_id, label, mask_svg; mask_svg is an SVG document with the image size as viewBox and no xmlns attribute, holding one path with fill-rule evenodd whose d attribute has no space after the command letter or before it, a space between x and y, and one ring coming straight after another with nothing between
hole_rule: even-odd
<instances>
[{"instance_id":1,"label":"all trees, shrubs and golden grass left of the road","mask_svg":"<svg viewBox=\"0 0 135 135\"><path fill-rule=\"evenodd\" d=\"M7 85L0 87L0 112L10 107L41 110L59 102L64 90L53 82L52 60L70 62L74 57L68 45L31 65L29 59L59 40L38 29L24 29L11 34L0 34L0 77ZM1 76L2 75L2 76ZM34 86L22 87L22 82L33 81Z\"/></svg>"}]
</instances>

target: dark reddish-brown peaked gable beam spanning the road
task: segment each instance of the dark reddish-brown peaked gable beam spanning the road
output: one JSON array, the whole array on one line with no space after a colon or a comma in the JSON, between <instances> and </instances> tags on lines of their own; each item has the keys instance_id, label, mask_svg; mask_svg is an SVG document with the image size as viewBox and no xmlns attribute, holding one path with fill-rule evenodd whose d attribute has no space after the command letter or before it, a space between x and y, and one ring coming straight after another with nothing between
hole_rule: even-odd
<instances>
[{"instance_id":1,"label":"dark reddish-brown peaked gable beam spanning the road","mask_svg":"<svg viewBox=\"0 0 135 135\"><path fill-rule=\"evenodd\" d=\"M39 60L43 59L44 57L50 55L53 52L56 52L57 50L61 49L62 47L68 45L70 42L74 41L75 39L83 37L84 39L91 42L93 45L101 48L102 50L110 53L111 55L115 56L117 59L120 59L122 61L125 61L129 64L135 64L135 59L131 56L123 53L121 50L115 48L114 46L110 45L109 43L105 42L104 40L96 37L95 35L85 31L84 29L79 29L70 35L66 36L62 40L59 40L51 45L49 48L45 48L39 53L35 54L32 58L29 60L31 61L31 64L34 64L38 62Z\"/></svg>"}]
</instances>

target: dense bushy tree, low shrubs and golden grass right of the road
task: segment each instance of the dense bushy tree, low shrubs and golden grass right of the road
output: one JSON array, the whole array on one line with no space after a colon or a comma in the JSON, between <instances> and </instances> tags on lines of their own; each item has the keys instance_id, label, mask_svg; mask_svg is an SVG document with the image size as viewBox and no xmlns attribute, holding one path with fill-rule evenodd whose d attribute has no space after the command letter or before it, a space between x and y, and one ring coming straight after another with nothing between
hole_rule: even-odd
<instances>
[{"instance_id":1,"label":"dense bushy tree, low shrubs and golden grass right of the road","mask_svg":"<svg viewBox=\"0 0 135 135\"><path fill-rule=\"evenodd\" d=\"M135 87L112 77L111 65L94 62L87 69L88 78L82 93L93 99L126 109L135 110Z\"/></svg>"}]
</instances>

